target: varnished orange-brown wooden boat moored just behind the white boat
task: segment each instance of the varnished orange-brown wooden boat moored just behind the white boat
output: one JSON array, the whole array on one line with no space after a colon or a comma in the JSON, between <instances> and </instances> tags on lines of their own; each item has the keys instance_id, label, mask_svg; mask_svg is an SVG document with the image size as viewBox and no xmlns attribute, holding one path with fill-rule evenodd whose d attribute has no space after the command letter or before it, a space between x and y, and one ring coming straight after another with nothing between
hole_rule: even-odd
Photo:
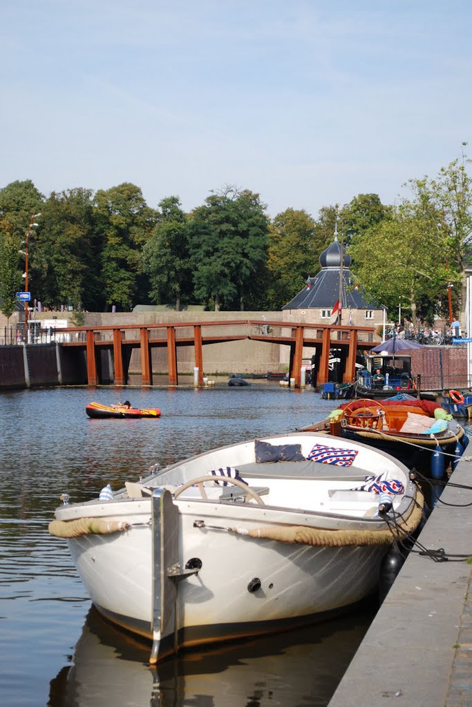
<instances>
[{"instance_id":1,"label":"varnished orange-brown wooden boat moored just behind the white boat","mask_svg":"<svg viewBox=\"0 0 472 707\"><path fill-rule=\"evenodd\" d=\"M449 466L455 468L468 445L468 436L450 415L439 424L435 415L447 417L446 411L430 400L408 395L403 400L364 398L341 404L330 418L304 429L372 445L409 469L441 478Z\"/></svg>"}]
</instances>

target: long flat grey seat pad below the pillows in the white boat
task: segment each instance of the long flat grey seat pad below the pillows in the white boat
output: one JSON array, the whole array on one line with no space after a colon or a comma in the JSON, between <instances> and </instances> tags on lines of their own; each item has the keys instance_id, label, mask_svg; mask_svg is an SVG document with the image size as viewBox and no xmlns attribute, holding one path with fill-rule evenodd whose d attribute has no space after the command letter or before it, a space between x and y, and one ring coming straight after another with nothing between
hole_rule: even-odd
<instances>
[{"instance_id":1,"label":"long flat grey seat pad below the pillows in the white boat","mask_svg":"<svg viewBox=\"0 0 472 707\"><path fill-rule=\"evenodd\" d=\"M236 464L241 479L318 479L319 481L365 481L367 472L359 467L337 467L334 464L322 462L276 462L268 464Z\"/></svg>"}]
</instances>

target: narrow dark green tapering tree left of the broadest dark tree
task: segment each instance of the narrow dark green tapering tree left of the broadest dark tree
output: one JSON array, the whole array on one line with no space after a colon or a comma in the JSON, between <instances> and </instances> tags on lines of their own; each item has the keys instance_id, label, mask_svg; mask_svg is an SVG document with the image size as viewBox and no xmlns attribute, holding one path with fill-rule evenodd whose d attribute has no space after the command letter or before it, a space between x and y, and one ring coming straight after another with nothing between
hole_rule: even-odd
<instances>
[{"instance_id":1,"label":"narrow dark green tapering tree left of the broadest dark tree","mask_svg":"<svg viewBox=\"0 0 472 707\"><path fill-rule=\"evenodd\" d=\"M149 297L156 304L175 302L175 309L192 293L187 216L178 197L159 203L154 233L143 248L144 272L149 275Z\"/></svg>"}]
</instances>

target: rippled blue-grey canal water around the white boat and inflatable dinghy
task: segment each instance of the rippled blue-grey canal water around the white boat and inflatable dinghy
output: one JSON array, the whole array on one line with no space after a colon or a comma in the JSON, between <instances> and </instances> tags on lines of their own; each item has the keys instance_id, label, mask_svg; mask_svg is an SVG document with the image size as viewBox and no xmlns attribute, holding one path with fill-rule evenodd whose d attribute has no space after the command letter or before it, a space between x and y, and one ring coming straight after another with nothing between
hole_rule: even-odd
<instances>
[{"instance_id":1,"label":"rippled blue-grey canal water around the white boat and inflatable dinghy","mask_svg":"<svg viewBox=\"0 0 472 707\"><path fill-rule=\"evenodd\" d=\"M129 399L160 419L91 420ZM64 540L47 525L67 492L96 498L210 448L293 431L336 407L277 382L213 388L44 388L0 393L0 699L13 706L327 705L376 606L303 630L182 652L149 667L149 643L105 624Z\"/></svg>"}]
</instances>

